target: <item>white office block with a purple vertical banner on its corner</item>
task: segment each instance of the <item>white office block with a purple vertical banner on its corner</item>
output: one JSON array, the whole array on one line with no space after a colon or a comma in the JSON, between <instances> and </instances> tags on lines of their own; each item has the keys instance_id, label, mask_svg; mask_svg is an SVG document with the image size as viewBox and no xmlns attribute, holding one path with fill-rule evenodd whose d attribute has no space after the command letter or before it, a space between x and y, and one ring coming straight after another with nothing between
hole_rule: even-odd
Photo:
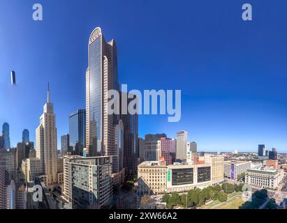
<instances>
[{"instance_id":1,"label":"white office block with a purple vertical banner on its corner","mask_svg":"<svg viewBox=\"0 0 287 223\"><path fill-rule=\"evenodd\" d=\"M240 174L251 168L251 161L224 161L224 176L236 180Z\"/></svg>"}]
</instances>

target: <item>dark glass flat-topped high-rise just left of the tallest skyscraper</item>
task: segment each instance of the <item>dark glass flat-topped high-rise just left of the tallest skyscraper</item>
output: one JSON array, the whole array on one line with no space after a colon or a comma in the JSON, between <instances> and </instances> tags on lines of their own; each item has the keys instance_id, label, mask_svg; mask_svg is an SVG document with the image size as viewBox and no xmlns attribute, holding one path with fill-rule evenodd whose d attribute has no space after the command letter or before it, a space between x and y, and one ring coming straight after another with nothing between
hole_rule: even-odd
<instances>
[{"instance_id":1,"label":"dark glass flat-topped high-rise just left of the tallest skyscraper","mask_svg":"<svg viewBox=\"0 0 287 223\"><path fill-rule=\"evenodd\" d=\"M69 116L70 146L75 155L82 155L86 147L86 109L78 109Z\"/></svg>"}]
</instances>

